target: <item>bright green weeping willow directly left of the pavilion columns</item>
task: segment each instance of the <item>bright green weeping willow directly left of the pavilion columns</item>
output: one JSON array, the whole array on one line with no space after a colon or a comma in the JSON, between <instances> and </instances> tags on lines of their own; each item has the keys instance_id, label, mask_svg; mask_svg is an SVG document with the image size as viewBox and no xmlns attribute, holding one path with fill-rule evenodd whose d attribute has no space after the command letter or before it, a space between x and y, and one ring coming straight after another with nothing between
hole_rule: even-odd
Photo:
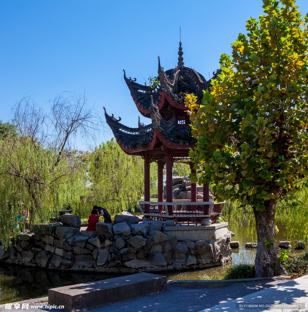
<instances>
[{"instance_id":1,"label":"bright green weeping willow directly left of the pavilion columns","mask_svg":"<svg viewBox=\"0 0 308 312\"><path fill-rule=\"evenodd\" d=\"M150 167L151 194L157 193L157 165ZM96 148L89 162L91 183L87 201L112 215L134 208L144 193L144 165L139 156L125 154L111 139Z\"/></svg>"}]
</instances>

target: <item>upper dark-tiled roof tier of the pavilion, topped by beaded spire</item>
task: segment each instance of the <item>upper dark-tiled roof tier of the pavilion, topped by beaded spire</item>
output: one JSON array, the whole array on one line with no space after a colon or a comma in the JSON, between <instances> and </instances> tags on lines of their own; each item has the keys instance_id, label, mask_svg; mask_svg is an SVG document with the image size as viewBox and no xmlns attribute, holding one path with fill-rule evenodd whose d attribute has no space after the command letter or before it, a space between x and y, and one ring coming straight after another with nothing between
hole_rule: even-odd
<instances>
[{"instance_id":1,"label":"upper dark-tiled roof tier of the pavilion, topped by beaded spire","mask_svg":"<svg viewBox=\"0 0 308 312\"><path fill-rule=\"evenodd\" d=\"M166 94L172 100L172 105L175 107L179 106L180 109L184 109L183 103L186 94L194 93L198 98L197 103L202 103L203 90L207 90L211 84L211 80L216 79L220 73L220 70L217 70L216 73L213 72L213 77L211 79L206 80L194 69L185 67L181 42L178 54L178 66L167 71L164 71L164 68L161 67L158 57L157 72L160 84L154 89L152 89L151 86L138 84L136 78L127 78L124 71L124 80L137 108L143 116L150 118L148 114L151 105L151 96L153 102L159 105L162 95Z\"/></svg>"}]
</instances>

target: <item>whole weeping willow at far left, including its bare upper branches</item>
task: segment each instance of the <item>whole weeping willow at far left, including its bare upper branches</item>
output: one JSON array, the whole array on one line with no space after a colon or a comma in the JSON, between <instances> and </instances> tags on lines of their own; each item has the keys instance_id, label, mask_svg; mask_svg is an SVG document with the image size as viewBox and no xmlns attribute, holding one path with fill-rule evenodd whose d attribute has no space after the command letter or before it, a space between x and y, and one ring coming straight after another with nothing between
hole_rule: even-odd
<instances>
[{"instance_id":1,"label":"whole weeping willow at far left, including its bare upper branches","mask_svg":"<svg viewBox=\"0 0 308 312\"><path fill-rule=\"evenodd\" d=\"M78 133L93 137L100 124L86 97L64 93L50 102L50 113L24 98L13 109L13 125L0 138L0 237L8 246L19 232L22 210L29 223L46 223L58 210L80 205L86 188L85 162L72 150ZM3 126L3 124L2 124ZM7 126L4 124L4 126ZM5 127L2 127L5 128ZM14 131L12 131L14 129ZM97 132L96 132L97 134ZM24 221L26 221L24 215Z\"/></svg>"}]
</instances>

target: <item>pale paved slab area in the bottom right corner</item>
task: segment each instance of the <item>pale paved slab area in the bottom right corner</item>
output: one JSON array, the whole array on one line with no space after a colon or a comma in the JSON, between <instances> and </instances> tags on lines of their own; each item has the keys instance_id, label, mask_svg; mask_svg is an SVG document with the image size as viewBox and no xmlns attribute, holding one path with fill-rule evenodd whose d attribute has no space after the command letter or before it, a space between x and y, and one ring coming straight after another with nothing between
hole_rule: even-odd
<instances>
[{"instance_id":1,"label":"pale paved slab area in the bottom right corner","mask_svg":"<svg viewBox=\"0 0 308 312\"><path fill-rule=\"evenodd\" d=\"M269 304L273 304L274 306L272 308L267 308L266 305ZM291 307L280 308L279 306L281 304L287 304ZM246 307L247 305L248 307ZM261 305L264 307L251 309L249 305ZM242 306L242 308L240 308L240 306ZM199 312L262 312L273 310L275 312L308 311L308 275Z\"/></svg>"}]
</instances>

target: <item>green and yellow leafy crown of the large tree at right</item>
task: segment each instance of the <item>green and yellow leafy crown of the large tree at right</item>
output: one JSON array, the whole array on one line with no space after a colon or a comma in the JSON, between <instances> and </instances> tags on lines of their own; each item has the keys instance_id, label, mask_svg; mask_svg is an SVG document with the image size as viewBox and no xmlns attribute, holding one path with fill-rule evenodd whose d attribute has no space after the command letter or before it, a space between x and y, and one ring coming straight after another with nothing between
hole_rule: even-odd
<instances>
[{"instance_id":1,"label":"green and yellow leafy crown of the large tree at right","mask_svg":"<svg viewBox=\"0 0 308 312\"><path fill-rule=\"evenodd\" d=\"M247 21L232 57L221 55L222 72L203 105L186 98L198 137L190 157L203 166L199 184L213 181L218 200L261 211L308 186L298 179L308 174L307 26L295 1L263 3L265 14Z\"/></svg>"}]
</instances>

